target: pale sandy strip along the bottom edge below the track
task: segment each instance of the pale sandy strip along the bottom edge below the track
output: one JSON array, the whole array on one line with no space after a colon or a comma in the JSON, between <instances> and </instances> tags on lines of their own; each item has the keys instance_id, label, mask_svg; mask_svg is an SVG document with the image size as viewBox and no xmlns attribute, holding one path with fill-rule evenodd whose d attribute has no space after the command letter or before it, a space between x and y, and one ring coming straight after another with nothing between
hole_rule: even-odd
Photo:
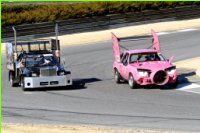
<instances>
[{"instance_id":1,"label":"pale sandy strip along the bottom edge below the track","mask_svg":"<svg viewBox=\"0 0 200 133\"><path fill-rule=\"evenodd\" d=\"M2 133L187 133L138 129L116 129L97 126L3 124Z\"/></svg>"}]
</instances>

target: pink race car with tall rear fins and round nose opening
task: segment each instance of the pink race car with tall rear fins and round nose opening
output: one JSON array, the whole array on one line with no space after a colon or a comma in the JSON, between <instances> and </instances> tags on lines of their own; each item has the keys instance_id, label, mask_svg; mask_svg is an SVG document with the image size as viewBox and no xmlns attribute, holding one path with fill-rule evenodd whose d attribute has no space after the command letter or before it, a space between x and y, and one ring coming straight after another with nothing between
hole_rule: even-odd
<instances>
[{"instance_id":1,"label":"pink race car with tall rear fins and round nose opening","mask_svg":"<svg viewBox=\"0 0 200 133\"><path fill-rule=\"evenodd\" d=\"M150 49L124 50L120 53L119 38L112 33L114 51L114 78L116 83L126 80L131 88L135 85L177 85L176 66L172 65L173 56L166 60L160 53L158 36L151 30ZM124 48L124 47L122 47Z\"/></svg>"}]
</instances>

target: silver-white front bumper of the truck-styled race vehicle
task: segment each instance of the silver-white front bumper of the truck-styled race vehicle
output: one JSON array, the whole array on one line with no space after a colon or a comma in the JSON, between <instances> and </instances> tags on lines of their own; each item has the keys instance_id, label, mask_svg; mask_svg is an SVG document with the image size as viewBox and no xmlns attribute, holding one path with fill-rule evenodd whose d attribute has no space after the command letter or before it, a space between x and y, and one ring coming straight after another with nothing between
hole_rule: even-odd
<instances>
[{"instance_id":1,"label":"silver-white front bumper of the truck-styled race vehicle","mask_svg":"<svg viewBox=\"0 0 200 133\"><path fill-rule=\"evenodd\" d=\"M25 88L43 88L72 85L71 74L63 76L24 77Z\"/></svg>"}]
</instances>

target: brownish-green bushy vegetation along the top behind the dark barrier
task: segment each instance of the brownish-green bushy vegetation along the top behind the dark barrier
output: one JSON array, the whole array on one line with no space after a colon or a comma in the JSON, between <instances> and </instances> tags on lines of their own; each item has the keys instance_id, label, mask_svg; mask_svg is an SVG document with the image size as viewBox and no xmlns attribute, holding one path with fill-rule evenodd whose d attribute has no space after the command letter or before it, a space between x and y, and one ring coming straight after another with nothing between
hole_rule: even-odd
<instances>
[{"instance_id":1,"label":"brownish-green bushy vegetation along the top behind the dark barrier","mask_svg":"<svg viewBox=\"0 0 200 133\"><path fill-rule=\"evenodd\" d=\"M103 16L115 13L159 10L200 2L56 2L42 4L2 4L2 26L52 22L71 18Z\"/></svg>"}]
</instances>

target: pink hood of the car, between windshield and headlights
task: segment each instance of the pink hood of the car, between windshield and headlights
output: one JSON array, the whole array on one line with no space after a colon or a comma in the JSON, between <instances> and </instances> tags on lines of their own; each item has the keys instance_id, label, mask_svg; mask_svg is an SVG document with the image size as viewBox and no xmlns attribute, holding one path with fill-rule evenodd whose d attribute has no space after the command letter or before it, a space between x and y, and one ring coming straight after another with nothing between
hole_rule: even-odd
<instances>
[{"instance_id":1,"label":"pink hood of the car, between windshield and headlights","mask_svg":"<svg viewBox=\"0 0 200 133\"><path fill-rule=\"evenodd\" d=\"M158 70L165 70L166 68L169 68L172 65L168 61L147 61L147 62L134 63L131 66L134 66L140 69L158 71Z\"/></svg>"}]
</instances>

